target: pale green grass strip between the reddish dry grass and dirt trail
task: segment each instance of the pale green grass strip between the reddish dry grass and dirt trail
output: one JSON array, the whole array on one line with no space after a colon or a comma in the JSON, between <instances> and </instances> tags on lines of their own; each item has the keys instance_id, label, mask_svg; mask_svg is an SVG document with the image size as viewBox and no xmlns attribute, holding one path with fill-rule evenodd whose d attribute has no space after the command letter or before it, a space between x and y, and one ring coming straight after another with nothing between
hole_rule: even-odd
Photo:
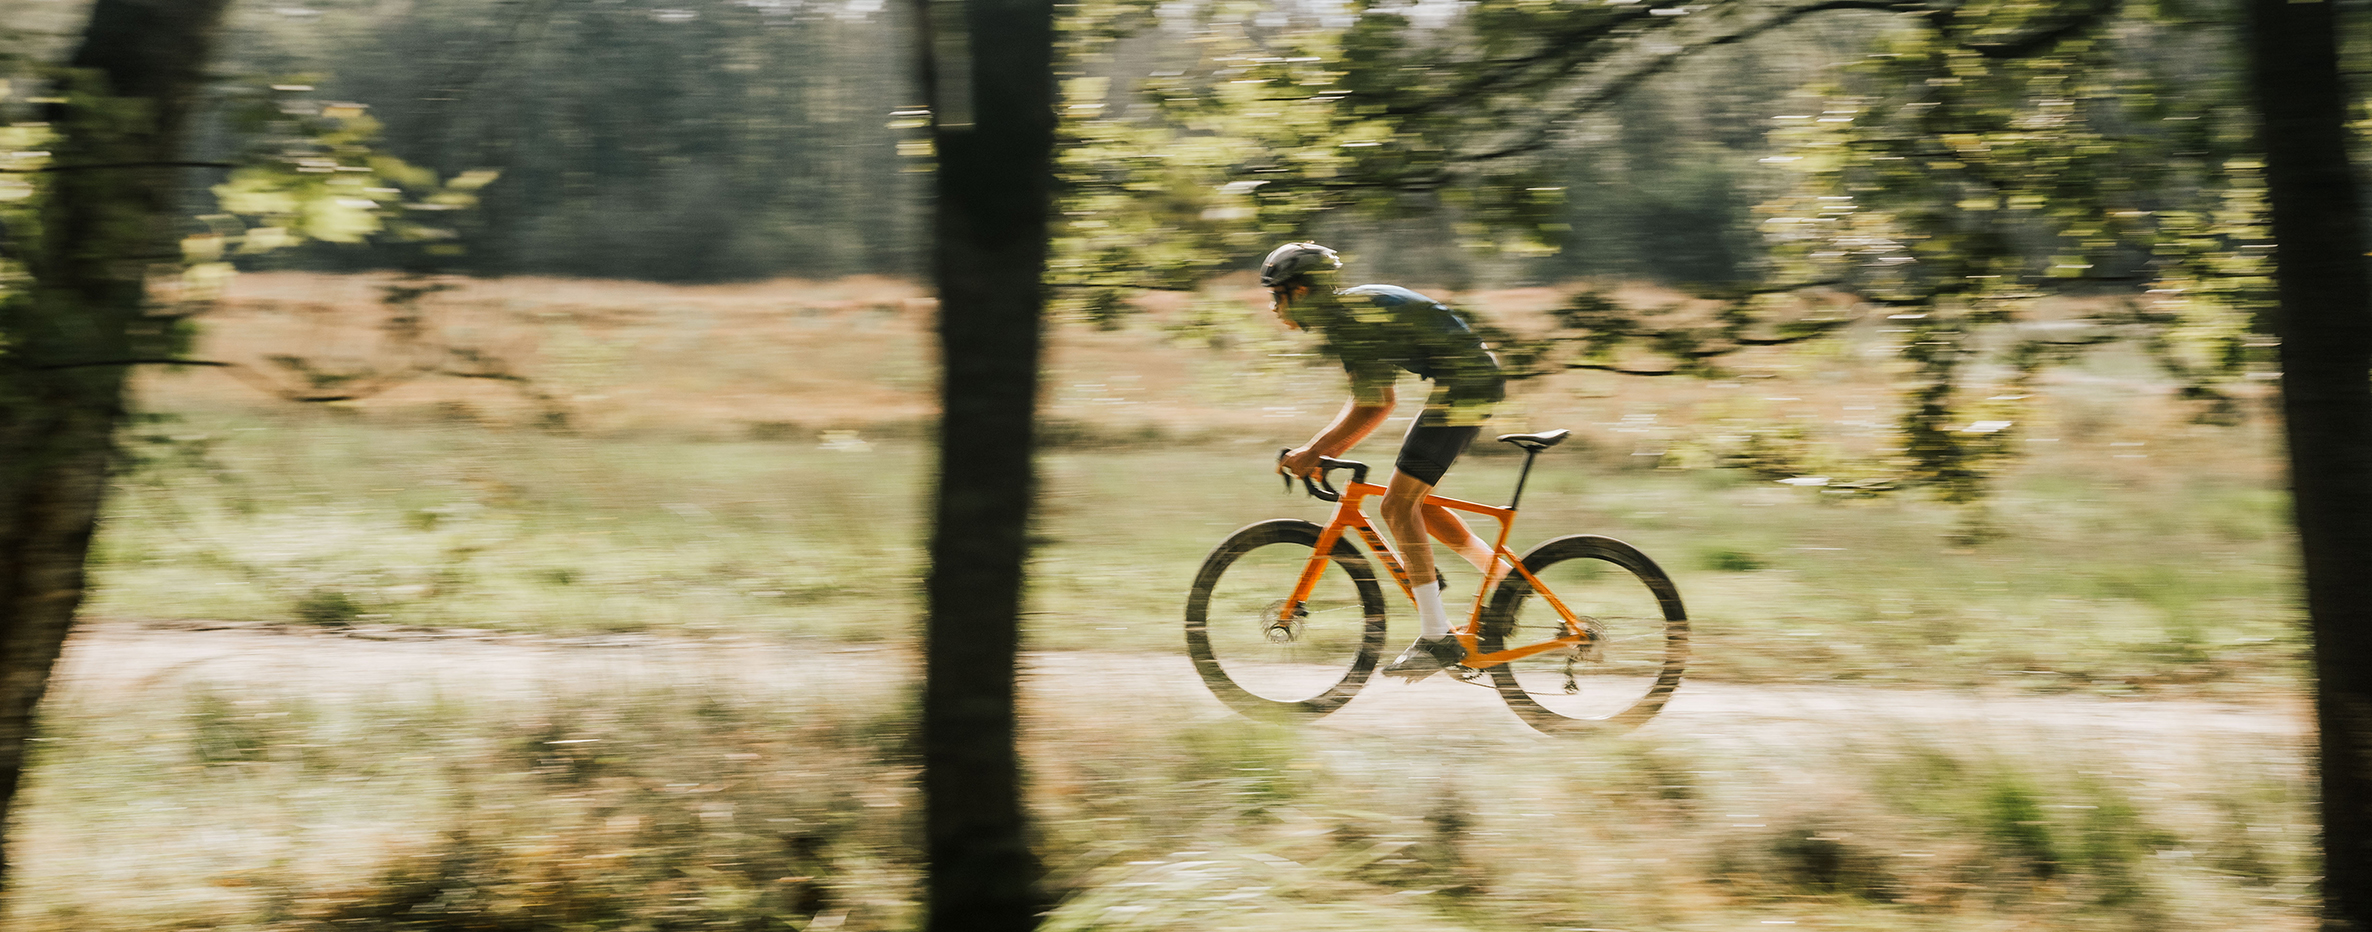
<instances>
[{"instance_id":1,"label":"pale green grass strip between the reddish dry grass and dirt trail","mask_svg":"<svg viewBox=\"0 0 2372 932\"><path fill-rule=\"evenodd\" d=\"M213 467L126 484L100 617L413 624L543 633L913 633L932 451L873 441L581 439L289 413ZM292 424L304 422L304 424ZM1563 455L1558 455L1563 453ZM1046 458L1029 619L1039 647L1172 650L1200 555L1286 496L1269 448L1065 448ZM1516 460L1447 493L1504 500ZM1611 534L1660 557L1701 636L1696 676L2042 688L2287 683L2296 626L2279 496L2223 477L2030 474L2004 536L1952 510L1845 503L1736 472L1599 472L1544 458L1518 534ZM1452 569L1473 586L1471 569Z\"/></svg>"}]
</instances>

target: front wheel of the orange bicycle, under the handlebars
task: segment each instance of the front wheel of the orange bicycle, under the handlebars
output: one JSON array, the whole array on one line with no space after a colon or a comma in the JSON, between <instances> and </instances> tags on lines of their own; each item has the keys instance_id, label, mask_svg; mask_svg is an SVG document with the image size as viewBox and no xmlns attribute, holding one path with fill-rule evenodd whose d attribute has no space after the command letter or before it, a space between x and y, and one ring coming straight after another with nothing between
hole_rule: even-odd
<instances>
[{"instance_id":1,"label":"front wheel of the orange bicycle, under the handlebars","mask_svg":"<svg viewBox=\"0 0 2372 932\"><path fill-rule=\"evenodd\" d=\"M1286 612L1319 545L1319 526L1245 526L1203 560L1186 595L1186 652L1231 709L1255 719L1314 719L1340 709L1383 652L1383 588L1350 541L1335 538L1316 588Z\"/></svg>"}]
</instances>

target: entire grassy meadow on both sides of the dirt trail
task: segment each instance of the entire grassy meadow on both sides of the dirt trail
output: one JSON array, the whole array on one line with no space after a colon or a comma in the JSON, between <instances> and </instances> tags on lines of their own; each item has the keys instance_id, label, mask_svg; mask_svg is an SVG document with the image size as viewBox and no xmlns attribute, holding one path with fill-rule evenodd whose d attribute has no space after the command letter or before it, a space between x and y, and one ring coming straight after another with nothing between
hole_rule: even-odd
<instances>
[{"instance_id":1,"label":"entire grassy meadow on both sides of the dirt trail","mask_svg":"<svg viewBox=\"0 0 2372 932\"><path fill-rule=\"evenodd\" d=\"M930 304L873 280L472 282L425 299L429 332L508 377L387 379L334 406L256 391L417 363L372 327L372 285L242 277L199 356L249 363L247 382L142 377L140 462L85 609L119 640L289 631L363 659L69 681L17 830L19 925L901 927ZM1523 323L1554 294L1461 299ZM1051 332L1025 619L1044 657L1179 655L1212 543L1324 515L1269 460L1324 422L1340 375L1226 301ZM1051 925L2306 927L2296 730L2104 740L2016 704L2289 714L2303 640L2261 398L2201 427L2137 358L2059 370L2023 401L1995 534L1966 543L1969 512L1917 493L1715 467L1741 434L1798 432L1883 470L1869 451L1902 377L1883 334L1734 375L1520 384L1506 429L1577 439L1542 458L1518 545L1611 534L1663 562L1694 619L1691 683L1945 690L2009 719L1694 719L1407 754L1395 730L1041 678ZM1359 455L1388 462L1388 434ZM1442 491L1504 500L1518 462L1478 451ZM413 628L742 659L510 685L389 659L425 674L375 678L384 645L358 636Z\"/></svg>"}]
</instances>

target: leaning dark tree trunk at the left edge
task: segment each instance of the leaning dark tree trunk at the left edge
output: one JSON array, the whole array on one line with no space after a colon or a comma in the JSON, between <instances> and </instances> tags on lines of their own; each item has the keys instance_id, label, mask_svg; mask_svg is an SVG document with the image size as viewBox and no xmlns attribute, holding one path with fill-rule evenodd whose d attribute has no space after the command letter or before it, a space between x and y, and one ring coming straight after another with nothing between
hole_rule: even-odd
<instances>
[{"instance_id":1,"label":"leaning dark tree trunk at the left edge","mask_svg":"<svg viewBox=\"0 0 2372 932\"><path fill-rule=\"evenodd\" d=\"M147 266L178 261L183 126L228 0L97 0L57 104L38 235L7 249L31 285L0 299L0 825L24 773L33 709L83 600L121 360L166 325L145 311ZM114 363L114 365L109 365ZM7 858L0 856L0 882Z\"/></svg>"}]
</instances>

